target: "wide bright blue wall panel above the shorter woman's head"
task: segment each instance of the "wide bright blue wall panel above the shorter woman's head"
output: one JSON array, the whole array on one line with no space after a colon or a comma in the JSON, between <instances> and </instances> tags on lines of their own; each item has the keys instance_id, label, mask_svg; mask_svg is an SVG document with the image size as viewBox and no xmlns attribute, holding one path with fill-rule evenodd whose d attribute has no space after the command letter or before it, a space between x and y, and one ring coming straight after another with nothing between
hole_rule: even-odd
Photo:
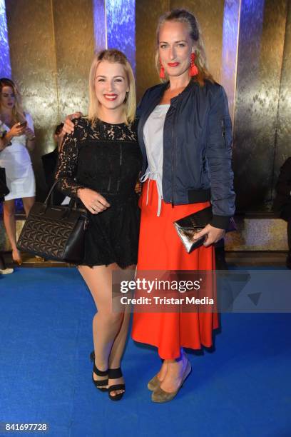
<instances>
[{"instance_id":1,"label":"wide bright blue wall panel above the shorter woman's head","mask_svg":"<svg viewBox=\"0 0 291 437\"><path fill-rule=\"evenodd\" d=\"M106 0L108 49L124 51L136 71L136 1Z\"/></svg>"}]
</instances>

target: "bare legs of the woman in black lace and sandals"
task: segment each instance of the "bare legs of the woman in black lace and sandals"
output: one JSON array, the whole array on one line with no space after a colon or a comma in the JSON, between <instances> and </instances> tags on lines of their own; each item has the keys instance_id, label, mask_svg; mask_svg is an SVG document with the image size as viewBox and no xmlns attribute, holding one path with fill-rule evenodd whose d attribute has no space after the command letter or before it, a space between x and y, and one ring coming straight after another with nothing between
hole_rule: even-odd
<instances>
[{"instance_id":1,"label":"bare legs of the woman in black lace and sandals","mask_svg":"<svg viewBox=\"0 0 291 437\"><path fill-rule=\"evenodd\" d=\"M108 365L119 367L121 356L128 330L129 317L123 313L114 313L111 308L112 302L112 271L118 269L114 263L110 266L79 266L79 271L91 291L98 308L98 313L93 318L93 342L95 351L95 364L101 371L106 371ZM114 344L114 346L113 346ZM113 356L110 359L111 351ZM93 378L98 381L102 377L94 374ZM105 379L106 377L103 377ZM109 380L109 386L123 383L123 378ZM113 396L122 393L123 390L113 391Z\"/></svg>"}]
</instances>

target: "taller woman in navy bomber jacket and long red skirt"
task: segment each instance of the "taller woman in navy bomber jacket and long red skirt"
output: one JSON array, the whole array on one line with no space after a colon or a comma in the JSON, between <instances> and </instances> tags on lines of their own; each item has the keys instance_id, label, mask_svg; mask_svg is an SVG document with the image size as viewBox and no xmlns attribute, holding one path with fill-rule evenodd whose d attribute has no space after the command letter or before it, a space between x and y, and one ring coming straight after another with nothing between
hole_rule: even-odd
<instances>
[{"instance_id":1,"label":"taller woman in navy bomber jacket and long red skirt","mask_svg":"<svg viewBox=\"0 0 291 437\"><path fill-rule=\"evenodd\" d=\"M193 14L175 9L160 18L156 64L163 84L148 89L139 106L143 192L138 271L215 268L213 243L234 214L232 128L222 86L206 68ZM200 232L205 243L188 254L173 221L212 204ZM170 401L191 371L183 347L213 344L215 311L136 312L133 339L158 348L163 365L148 383L154 402Z\"/></svg>"}]
</instances>

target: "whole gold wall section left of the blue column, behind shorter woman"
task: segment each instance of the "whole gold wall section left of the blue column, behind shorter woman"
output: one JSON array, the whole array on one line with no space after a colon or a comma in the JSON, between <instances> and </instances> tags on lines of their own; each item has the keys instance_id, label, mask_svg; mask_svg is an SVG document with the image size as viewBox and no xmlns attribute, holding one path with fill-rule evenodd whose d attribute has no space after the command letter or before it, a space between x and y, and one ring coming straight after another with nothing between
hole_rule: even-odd
<instances>
[{"instance_id":1,"label":"whole gold wall section left of the blue column, behind shorter woman","mask_svg":"<svg viewBox=\"0 0 291 437\"><path fill-rule=\"evenodd\" d=\"M41 156L53 150L53 130L66 114L88 108L93 58L91 0L6 0L11 69L34 119L36 195L46 192Z\"/></svg>"}]
</instances>

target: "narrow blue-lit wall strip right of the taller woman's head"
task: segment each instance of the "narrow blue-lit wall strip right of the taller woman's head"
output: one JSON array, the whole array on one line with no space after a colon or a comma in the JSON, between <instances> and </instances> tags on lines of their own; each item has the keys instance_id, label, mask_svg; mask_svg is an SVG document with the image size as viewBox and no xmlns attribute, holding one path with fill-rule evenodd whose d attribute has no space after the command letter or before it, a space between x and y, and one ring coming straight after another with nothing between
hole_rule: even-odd
<instances>
[{"instance_id":1,"label":"narrow blue-lit wall strip right of the taller woman's head","mask_svg":"<svg viewBox=\"0 0 291 437\"><path fill-rule=\"evenodd\" d=\"M235 116L235 88L238 61L238 36L240 27L240 1L225 0L223 13L223 53L221 59L221 84L228 95L231 119Z\"/></svg>"}]
</instances>

